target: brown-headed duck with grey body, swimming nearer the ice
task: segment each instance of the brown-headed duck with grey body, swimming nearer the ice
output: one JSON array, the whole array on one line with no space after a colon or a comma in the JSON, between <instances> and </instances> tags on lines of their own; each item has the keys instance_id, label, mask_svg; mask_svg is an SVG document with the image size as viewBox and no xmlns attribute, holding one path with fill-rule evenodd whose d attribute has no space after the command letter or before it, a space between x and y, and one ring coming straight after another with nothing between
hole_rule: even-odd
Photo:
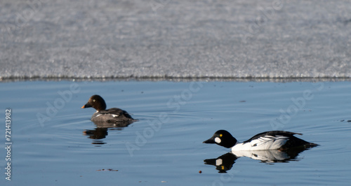
<instances>
[{"instance_id":1,"label":"brown-headed duck with grey body, swimming nearer the ice","mask_svg":"<svg viewBox=\"0 0 351 186\"><path fill-rule=\"evenodd\" d=\"M93 107L96 109L96 113L91 116L91 121L105 124L113 124L118 122L135 122L136 120L129 115L126 110L121 110L120 108L110 108L106 110L105 100L99 95L93 95L81 108ZM118 127L118 126L116 126ZM126 126L121 126L126 127Z\"/></svg>"}]
</instances>

